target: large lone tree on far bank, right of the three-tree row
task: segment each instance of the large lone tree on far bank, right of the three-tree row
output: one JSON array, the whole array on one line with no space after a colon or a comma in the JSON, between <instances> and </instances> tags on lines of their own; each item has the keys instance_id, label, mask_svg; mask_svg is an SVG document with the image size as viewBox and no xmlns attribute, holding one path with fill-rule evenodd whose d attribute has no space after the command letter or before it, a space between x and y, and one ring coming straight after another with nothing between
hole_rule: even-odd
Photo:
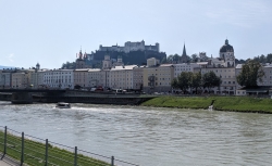
<instances>
[{"instance_id":1,"label":"large lone tree on far bank, right of the three-tree row","mask_svg":"<svg viewBox=\"0 0 272 166\"><path fill-rule=\"evenodd\" d=\"M262 81L264 72L258 61L249 60L243 65L242 72L236 77L237 82L246 88L257 87L257 80Z\"/></svg>"}]
</instances>

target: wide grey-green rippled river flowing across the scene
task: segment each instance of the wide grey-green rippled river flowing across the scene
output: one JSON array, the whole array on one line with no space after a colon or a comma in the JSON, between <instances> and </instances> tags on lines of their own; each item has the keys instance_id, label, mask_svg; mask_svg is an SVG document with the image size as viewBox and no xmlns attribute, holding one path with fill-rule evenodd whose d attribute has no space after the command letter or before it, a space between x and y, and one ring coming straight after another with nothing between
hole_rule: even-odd
<instances>
[{"instance_id":1,"label":"wide grey-green rippled river flowing across the scene","mask_svg":"<svg viewBox=\"0 0 272 166\"><path fill-rule=\"evenodd\" d=\"M272 165L272 115L0 102L0 126L141 166Z\"/></svg>"}]
</instances>

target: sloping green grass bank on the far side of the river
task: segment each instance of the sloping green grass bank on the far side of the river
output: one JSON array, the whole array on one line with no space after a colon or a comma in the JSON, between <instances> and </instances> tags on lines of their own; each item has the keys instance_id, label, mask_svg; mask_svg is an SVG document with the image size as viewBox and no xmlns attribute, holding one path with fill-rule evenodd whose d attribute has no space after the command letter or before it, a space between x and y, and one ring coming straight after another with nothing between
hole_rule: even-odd
<instances>
[{"instance_id":1,"label":"sloping green grass bank on the far side of the river","mask_svg":"<svg viewBox=\"0 0 272 166\"><path fill-rule=\"evenodd\" d=\"M272 114L272 99L251 97L158 97L141 103L143 106L208 108L232 112L252 112Z\"/></svg>"}]
</instances>

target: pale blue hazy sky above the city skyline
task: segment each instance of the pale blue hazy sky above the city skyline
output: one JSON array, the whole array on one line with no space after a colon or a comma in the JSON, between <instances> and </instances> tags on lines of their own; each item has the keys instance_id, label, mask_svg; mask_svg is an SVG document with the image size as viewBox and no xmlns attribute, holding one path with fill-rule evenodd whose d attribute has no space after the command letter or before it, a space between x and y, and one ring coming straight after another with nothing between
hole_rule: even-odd
<instances>
[{"instance_id":1,"label":"pale blue hazy sky above the city skyline","mask_svg":"<svg viewBox=\"0 0 272 166\"><path fill-rule=\"evenodd\" d=\"M0 65L60 68L76 53L126 41L235 58L272 53L271 0L0 0Z\"/></svg>"}]
</instances>

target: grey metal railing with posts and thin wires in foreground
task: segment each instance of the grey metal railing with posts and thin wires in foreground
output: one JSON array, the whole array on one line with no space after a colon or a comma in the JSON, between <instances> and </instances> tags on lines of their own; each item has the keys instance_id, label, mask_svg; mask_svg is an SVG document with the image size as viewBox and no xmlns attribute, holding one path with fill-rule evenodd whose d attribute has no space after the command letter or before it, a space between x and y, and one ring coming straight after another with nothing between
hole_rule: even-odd
<instances>
[{"instance_id":1,"label":"grey metal railing with posts and thin wires in foreground","mask_svg":"<svg viewBox=\"0 0 272 166\"><path fill-rule=\"evenodd\" d=\"M3 128L3 129L1 129ZM42 166L138 166L129 162L44 140L0 126L0 151L20 164Z\"/></svg>"}]
</instances>

